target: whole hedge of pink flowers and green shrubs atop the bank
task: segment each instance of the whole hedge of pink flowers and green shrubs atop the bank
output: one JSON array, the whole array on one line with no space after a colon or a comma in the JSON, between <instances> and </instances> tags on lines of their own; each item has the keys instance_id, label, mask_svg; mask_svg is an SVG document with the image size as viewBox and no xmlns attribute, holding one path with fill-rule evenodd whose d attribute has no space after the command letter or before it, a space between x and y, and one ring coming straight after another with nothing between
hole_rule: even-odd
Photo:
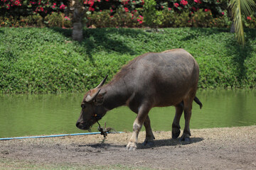
<instances>
[{"instance_id":1,"label":"whole hedge of pink flowers and green shrubs atop the bank","mask_svg":"<svg viewBox=\"0 0 256 170\"><path fill-rule=\"evenodd\" d=\"M0 0L0 26L72 27L71 0ZM156 0L146 16L147 0L80 0L86 26L95 27L227 27L228 0ZM65 13L65 14L64 14ZM151 16L151 18L150 18ZM195 21L193 21L195 20ZM207 24L205 24L208 22ZM255 26L255 15L245 16Z\"/></svg>"}]
</instances>

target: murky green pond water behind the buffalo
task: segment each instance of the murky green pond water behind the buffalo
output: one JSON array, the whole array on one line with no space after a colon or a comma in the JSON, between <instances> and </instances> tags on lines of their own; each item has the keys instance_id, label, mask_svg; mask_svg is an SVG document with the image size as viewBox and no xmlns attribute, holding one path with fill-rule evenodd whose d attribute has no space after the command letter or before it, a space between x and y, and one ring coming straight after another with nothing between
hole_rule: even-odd
<instances>
[{"instance_id":1,"label":"murky green pond water behind the buffalo","mask_svg":"<svg viewBox=\"0 0 256 170\"><path fill-rule=\"evenodd\" d=\"M39 94L0 96L0 137L53 135L87 132L76 128L84 94ZM203 108L194 102L191 129L256 125L256 90L201 90ZM153 108L149 112L153 130L171 130L175 108ZM127 107L114 108L101 125L117 131L132 131L136 114ZM181 128L184 118L181 118ZM142 129L144 130L144 128ZM92 132L97 132L97 124Z\"/></svg>"}]
</instances>

